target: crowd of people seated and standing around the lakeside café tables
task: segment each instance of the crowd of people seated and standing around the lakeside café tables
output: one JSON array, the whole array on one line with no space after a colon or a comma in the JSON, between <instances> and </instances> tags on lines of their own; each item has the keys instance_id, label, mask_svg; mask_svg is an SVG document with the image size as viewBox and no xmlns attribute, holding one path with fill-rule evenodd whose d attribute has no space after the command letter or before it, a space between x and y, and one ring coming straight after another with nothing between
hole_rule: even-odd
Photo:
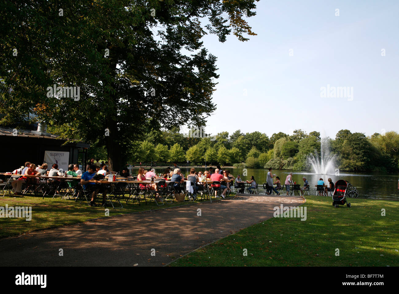
<instances>
[{"instance_id":1,"label":"crowd of people seated and standing around the lakeside caf\u00e9 tables","mask_svg":"<svg viewBox=\"0 0 399 294\"><path fill-rule=\"evenodd\" d=\"M116 174L115 171L109 170L109 166L107 165L107 162L100 162L99 159L97 159L97 162L94 162L95 159L91 158L89 161L89 164L86 166L86 172L82 172L79 168L78 164L70 164L68 166L68 171L65 172L66 176L72 176L72 177L80 177L80 184L83 186L83 188L91 193L91 201L90 205L95 205L95 197L97 194L102 193L100 185L95 185L95 183L90 182L91 179L95 176L95 174L101 174L104 177L108 176L109 174ZM53 164L49 170L47 163L43 163L41 165L36 166L35 164L32 164L30 162L25 162L24 166L21 166L20 168L14 170L12 174L20 174L22 177L20 177L18 180L14 180L12 182L12 187L15 191L15 194L21 194L22 192L22 184L27 183L29 181L40 181L39 176L42 175L47 175L50 177L53 176L62 176L63 171L58 168L57 164ZM26 175L34 175L38 176L37 178L34 177L26 177ZM286 196L288 196L292 185L296 184L292 180L292 172L290 172L285 179L284 185L285 185L285 190L286 190ZM120 176L122 177L129 177L129 170L127 168L124 168L122 172L120 173ZM177 165L177 163L174 163L174 166L172 168L168 167L164 169L163 173L156 173L155 168L150 168L149 170L145 170L144 168L140 167L138 170L137 174L137 180L154 180L154 179L164 179L164 180L170 180L174 183L174 188L177 193L182 192L184 190L184 186L182 185L185 180L187 180L189 183L186 183L186 190L190 191L193 194L193 198L195 199L196 194L198 193L199 190L203 189L203 185L199 185L199 182L205 182L206 180L210 180L213 183L211 184L211 187L215 191L215 197L216 198L225 198L227 191L231 192L231 185L234 183L234 188L237 189L237 192L243 193L245 189L245 184L247 185L247 191L252 194L254 192L257 192L257 181L255 180L254 176L251 176L249 180L243 180L241 178L241 175L237 175L237 178L233 176L230 172L230 170L223 170L220 166L216 166L216 168L209 167L208 170L204 171L196 171L195 168L190 169L190 174L188 174L186 177L184 174L182 174L180 167ZM303 186L299 188L299 191L301 195L304 195L306 191L310 189L310 185L308 180L306 180L306 177L302 178L303 180ZM42 180L44 181L44 180ZM57 181L57 179L46 179L45 181ZM190 182L192 184L190 184ZM73 180L68 182L69 187L75 188L75 193L77 194L77 189L79 185L79 180ZM270 195L272 192L275 192L277 195L280 195L280 191L282 190L283 186L281 185L280 178L276 174L273 174L273 169L269 168L267 172L267 178L266 178L266 194ZM320 178L317 182L318 186L322 186L323 190L318 190L318 195L325 194L327 195L328 192L334 191L334 182L332 182L331 178L328 178L328 184L324 183L324 180ZM158 186L156 182L150 183L150 184L140 184L139 185L141 189L146 189L146 190L155 190L158 191ZM192 188L190 188L190 186ZM217 196L217 191L220 191L220 196ZM103 193L103 202L105 201L105 193ZM157 196L158 197L158 196ZM103 203L104 204L104 203Z\"/></svg>"}]
</instances>

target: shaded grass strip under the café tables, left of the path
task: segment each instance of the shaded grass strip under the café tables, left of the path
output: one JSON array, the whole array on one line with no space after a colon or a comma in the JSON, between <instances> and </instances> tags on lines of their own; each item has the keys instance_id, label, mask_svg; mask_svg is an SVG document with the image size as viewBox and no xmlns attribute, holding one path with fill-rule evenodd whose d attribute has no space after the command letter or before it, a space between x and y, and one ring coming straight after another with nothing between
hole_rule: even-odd
<instances>
[{"instance_id":1,"label":"shaded grass strip under the caf\u00e9 tables, left of the path","mask_svg":"<svg viewBox=\"0 0 399 294\"><path fill-rule=\"evenodd\" d=\"M109 208L109 216L115 216L118 214L126 214L129 212L139 212L144 210L153 210L158 208L168 208L173 206L179 206L194 202L176 202L172 204L166 204L163 206L157 206L152 200L151 202L147 199L147 205L144 200L141 202L141 206L135 202L132 204L121 200L123 208ZM0 238L20 235L26 232L34 230L53 228L68 224L75 224L78 222L84 222L93 218L105 218L105 208L103 207L91 207L87 204L76 203L74 200L61 200L60 198L44 198L34 196L16 197L13 195L6 194L4 198L0 198L0 206L32 206L32 220L26 221L25 218L0 218Z\"/></svg>"}]
</instances>

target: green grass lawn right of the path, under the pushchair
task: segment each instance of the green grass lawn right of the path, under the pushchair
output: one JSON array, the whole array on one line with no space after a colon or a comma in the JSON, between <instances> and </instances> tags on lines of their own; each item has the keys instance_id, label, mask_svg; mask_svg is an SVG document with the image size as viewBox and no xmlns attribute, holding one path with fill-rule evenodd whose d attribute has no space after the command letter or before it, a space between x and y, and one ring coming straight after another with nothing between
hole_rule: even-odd
<instances>
[{"instance_id":1,"label":"green grass lawn right of the path, under the pushchair","mask_svg":"<svg viewBox=\"0 0 399 294\"><path fill-rule=\"evenodd\" d=\"M331 197L306 196L307 220L265 220L172 266L398 266L399 201L349 202L351 208L334 208Z\"/></svg>"}]
</instances>

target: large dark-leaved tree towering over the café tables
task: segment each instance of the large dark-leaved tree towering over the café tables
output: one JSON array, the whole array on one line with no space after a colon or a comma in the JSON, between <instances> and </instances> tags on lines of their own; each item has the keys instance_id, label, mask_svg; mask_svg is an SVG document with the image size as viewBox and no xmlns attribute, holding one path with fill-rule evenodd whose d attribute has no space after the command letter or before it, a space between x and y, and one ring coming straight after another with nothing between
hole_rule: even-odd
<instances>
[{"instance_id":1,"label":"large dark-leaved tree towering over the caf\u00e9 tables","mask_svg":"<svg viewBox=\"0 0 399 294\"><path fill-rule=\"evenodd\" d=\"M255 1L8 1L0 14L0 124L31 113L63 125L62 136L102 138L119 170L148 121L154 129L204 124L218 76L201 38L224 42L233 32L248 40ZM53 95L53 84L79 87L80 96Z\"/></svg>"}]
</instances>

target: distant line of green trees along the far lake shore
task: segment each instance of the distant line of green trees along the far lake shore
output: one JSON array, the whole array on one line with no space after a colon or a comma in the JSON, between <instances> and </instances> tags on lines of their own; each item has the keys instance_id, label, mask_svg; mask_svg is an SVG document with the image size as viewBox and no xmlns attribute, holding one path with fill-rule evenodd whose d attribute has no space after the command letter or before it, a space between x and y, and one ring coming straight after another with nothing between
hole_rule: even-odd
<instances>
[{"instance_id":1,"label":"distant line of green trees along the far lake shore","mask_svg":"<svg viewBox=\"0 0 399 294\"><path fill-rule=\"evenodd\" d=\"M307 134L294 130L293 134L274 133L270 138L261 132L242 133L241 130L218 133L211 138L187 138L180 129L147 130L134 141L126 158L127 163L154 164L186 162L191 165L220 164L247 168L308 170L309 154L320 154L320 132ZM366 137L362 133L340 130L334 139L326 138L336 168L346 171L396 172L399 170L399 134L391 131ZM95 144L96 145L96 144ZM90 153L101 154L101 145ZM105 150L104 150L105 152ZM99 155L101 156L101 155Z\"/></svg>"}]
</instances>

